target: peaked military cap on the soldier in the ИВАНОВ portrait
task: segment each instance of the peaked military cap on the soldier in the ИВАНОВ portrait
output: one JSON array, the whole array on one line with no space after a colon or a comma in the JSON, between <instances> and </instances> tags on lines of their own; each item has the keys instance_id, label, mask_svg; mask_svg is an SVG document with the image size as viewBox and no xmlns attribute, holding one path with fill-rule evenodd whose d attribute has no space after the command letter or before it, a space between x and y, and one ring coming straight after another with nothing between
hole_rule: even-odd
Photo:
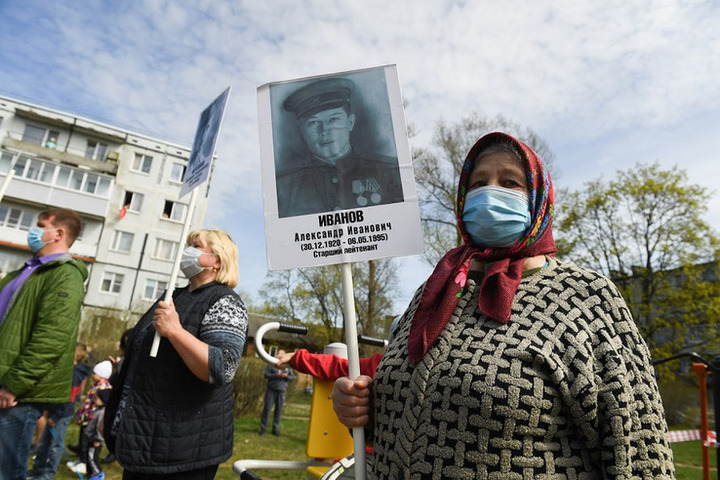
<instances>
[{"instance_id":1,"label":"peaked military cap on the soldier in the \u0418\u0412\u0410\u041d\u041e\u0412 portrait","mask_svg":"<svg viewBox=\"0 0 720 480\"><path fill-rule=\"evenodd\" d=\"M298 118L309 117L323 110L349 105L354 88L353 81L346 78L319 80L291 93L283 102L283 108Z\"/></svg>"}]
</instances>

